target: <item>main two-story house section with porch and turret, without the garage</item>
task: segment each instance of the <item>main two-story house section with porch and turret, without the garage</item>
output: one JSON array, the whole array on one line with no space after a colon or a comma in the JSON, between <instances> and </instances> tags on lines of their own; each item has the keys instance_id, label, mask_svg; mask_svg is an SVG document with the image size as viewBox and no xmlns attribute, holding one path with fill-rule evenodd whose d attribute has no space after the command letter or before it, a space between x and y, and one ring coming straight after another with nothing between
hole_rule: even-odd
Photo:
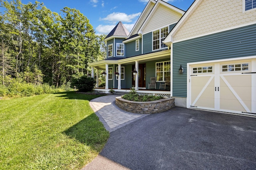
<instances>
[{"instance_id":1,"label":"main two-story house section with porch and turret, without the garage","mask_svg":"<svg viewBox=\"0 0 256 170\"><path fill-rule=\"evenodd\" d=\"M127 92L135 88L139 93L171 97L170 89L159 90L160 83L171 75L171 50L162 41L184 13L162 0L150 0L130 33L119 22L105 38L107 58L89 64L92 72L95 68L106 72L105 89L95 90ZM156 78L156 87L149 90L151 77Z\"/></svg>"}]
</instances>

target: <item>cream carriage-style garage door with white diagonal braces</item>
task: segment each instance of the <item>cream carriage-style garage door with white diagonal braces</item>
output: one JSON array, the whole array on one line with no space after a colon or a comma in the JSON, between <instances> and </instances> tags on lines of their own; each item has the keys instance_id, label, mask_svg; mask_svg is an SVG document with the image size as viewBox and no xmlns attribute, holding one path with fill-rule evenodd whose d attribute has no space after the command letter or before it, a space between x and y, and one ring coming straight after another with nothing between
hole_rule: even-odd
<instances>
[{"instance_id":1,"label":"cream carriage-style garage door with white diagonal braces","mask_svg":"<svg viewBox=\"0 0 256 170\"><path fill-rule=\"evenodd\" d=\"M190 64L190 107L256 115L256 60Z\"/></svg>"}]
</instances>

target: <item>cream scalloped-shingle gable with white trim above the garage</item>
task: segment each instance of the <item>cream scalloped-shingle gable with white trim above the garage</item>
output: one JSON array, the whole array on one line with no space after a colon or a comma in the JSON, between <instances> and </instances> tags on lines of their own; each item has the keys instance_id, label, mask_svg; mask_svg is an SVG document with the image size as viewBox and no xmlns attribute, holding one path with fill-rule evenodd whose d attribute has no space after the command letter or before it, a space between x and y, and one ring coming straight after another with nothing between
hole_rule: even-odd
<instances>
[{"instance_id":1,"label":"cream scalloped-shingle gable with white trim above the garage","mask_svg":"<svg viewBox=\"0 0 256 170\"><path fill-rule=\"evenodd\" d=\"M184 41L256 23L256 10L243 13L242 0L195 0L164 40Z\"/></svg>"}]
</instances>

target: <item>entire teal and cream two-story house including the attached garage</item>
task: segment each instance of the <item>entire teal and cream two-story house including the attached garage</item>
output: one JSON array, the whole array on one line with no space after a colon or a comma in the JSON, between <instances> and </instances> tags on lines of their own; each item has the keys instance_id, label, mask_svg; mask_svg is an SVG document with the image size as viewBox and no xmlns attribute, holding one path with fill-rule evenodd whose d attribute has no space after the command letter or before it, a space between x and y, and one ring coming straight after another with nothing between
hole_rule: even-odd
<instances>
[{"instance_id":1,"label":"entire teal and cream two-story house including the attached garage","mask_svg":"<svg viewBox=\"0 0 256 170\"><path fill-rule=\"evenodd\" d=\"M129 34L106 43L107 59L89 64L107 70L104 90L135 87L176 106L256 114L256 0L195 0L186 13L150 0ZM150 77L158 89L169 76L170 91L148 89Z\"/></svg>"}]
</instances>

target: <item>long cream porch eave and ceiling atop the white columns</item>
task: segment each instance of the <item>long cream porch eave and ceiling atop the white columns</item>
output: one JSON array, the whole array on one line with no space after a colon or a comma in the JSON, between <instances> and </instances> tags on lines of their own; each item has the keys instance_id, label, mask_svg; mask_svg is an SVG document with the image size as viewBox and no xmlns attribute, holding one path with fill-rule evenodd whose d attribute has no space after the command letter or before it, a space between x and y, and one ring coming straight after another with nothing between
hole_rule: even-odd
<instances>
[{"instance_id":1,"label":"long cream porch eave and ceiling atop the white columns","mask_svg":"<svg viewBox=\"0 0 256 170\"><path fill-rule=\"evenodd\" d=\"M161 59L170 59L171 50L164 50L164 51L158 51L155 53L149 53L145 55L139 55L136 57L129 57L124 58L121 60L102 60L97 61L94 63L89 63L89 66L93 66L94 68L98 70L105 70L106 64L134 64L135 61L138 61L139 63L144 63L146 61L155 61L155 60L161 60Z\"/></svg>"}]
</instances>

